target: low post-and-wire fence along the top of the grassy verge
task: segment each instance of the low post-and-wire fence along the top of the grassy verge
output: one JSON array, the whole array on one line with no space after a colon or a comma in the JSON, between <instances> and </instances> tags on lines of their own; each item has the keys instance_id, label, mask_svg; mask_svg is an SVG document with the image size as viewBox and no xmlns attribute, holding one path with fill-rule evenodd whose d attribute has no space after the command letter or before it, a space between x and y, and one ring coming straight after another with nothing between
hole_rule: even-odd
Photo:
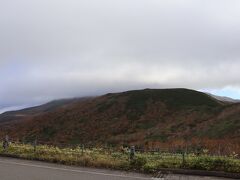
<instances>
[{"instance_id":1,"label":"low post-and-wire fence along the top of the grassy verge","mask_svg":"<svg viewBox=\"0 0 240 180\"><path fill-rule=\"evenodd\" d=\"M200 155L200 154L209 154L209 155L213 155L213 156L235 156L237 158L239 158L239 155L237 153L235 153L234 151L231 151L229 149L229 152L221 152L221 146L219 145L218 147L218 152L208 152L207 148L205 147L191 147L191 146L184 146L184 147L170 147L170 148L149 148L149 147L144 147L144 146L133 146L133 145L125 145L125 146L118 146L118 147L113 147L113 146L109 146L107 144L105 145L89 145L89 144L66 144L66 143L59 143L59 142L45 142L45 141L41 141L41 140L33 140L33 141L28 141L28 142L24 142L24 140L14 140L14 139L10 139L8 136L6 136L3 140L3 148L7 149L9 144L11 143L22 143L22 144L31 144L33 146L34 151L37 150L37 146L39 145L48 145L48 146L55 146L58 148L81 148L82 152L84 152L85 149L102 149L106 152L108 152L109 154L111 154L112 152L128 152L130 154L130 157L133 157L135 155L135 153L152 153L152 154L161 154L161 153L171 153L171 154L181 154L182 155L182 161L183 163L185 162L185 158L188 154L195 154L195 155ZM223 144L223 146L225 146Z\"/></svg>"}]
</instances>

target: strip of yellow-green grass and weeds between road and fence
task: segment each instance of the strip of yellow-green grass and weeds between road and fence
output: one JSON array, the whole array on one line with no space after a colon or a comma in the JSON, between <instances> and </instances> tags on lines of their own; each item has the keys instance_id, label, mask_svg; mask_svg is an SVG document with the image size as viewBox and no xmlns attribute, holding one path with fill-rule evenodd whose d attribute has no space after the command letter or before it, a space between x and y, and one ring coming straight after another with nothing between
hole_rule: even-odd
<instances>
[{"instance_id":1,"label":"strip of yellow-green grass and weeds between road and fence","mask_svg":"<svg viewBox=\"0 0 240 180\"><path fill-rule=\"evenodd\" d=\"M84 149L81 147L58 148L39 145L36 151L32 145L12 143L7 150L0 147L0 154L30 160L77 165L86 167L131 170L154 173L161 168L183 168L207 171L224 171L240 173L240 159L236 156L210 156L207 154L185 156L172 153L136 153L133 160L129 160L129 153L116 152L113 149Z\"/></svg>"}]
</instances>

